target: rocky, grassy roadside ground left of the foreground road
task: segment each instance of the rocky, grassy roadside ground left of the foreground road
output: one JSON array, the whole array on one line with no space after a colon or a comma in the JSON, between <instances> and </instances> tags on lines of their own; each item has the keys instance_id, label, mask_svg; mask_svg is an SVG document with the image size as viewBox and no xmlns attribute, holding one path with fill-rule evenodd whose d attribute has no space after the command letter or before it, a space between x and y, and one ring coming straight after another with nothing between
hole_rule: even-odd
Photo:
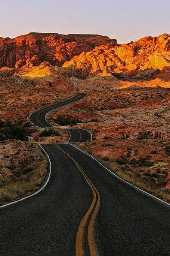
<instances>
[{"instance_id":1,"label":"rocky, grassy roadside ground left of the foreground road","mask_svg":"<svg viewBox=\"0 0 170 256\"><path fill-rule=\"evenodd\" d=\"M46 176L48 163L40 148L33 145L32 155L30 145L24 143L13 141L0 146L0 204L33 193Z\"/></svg>"}]
</instances>

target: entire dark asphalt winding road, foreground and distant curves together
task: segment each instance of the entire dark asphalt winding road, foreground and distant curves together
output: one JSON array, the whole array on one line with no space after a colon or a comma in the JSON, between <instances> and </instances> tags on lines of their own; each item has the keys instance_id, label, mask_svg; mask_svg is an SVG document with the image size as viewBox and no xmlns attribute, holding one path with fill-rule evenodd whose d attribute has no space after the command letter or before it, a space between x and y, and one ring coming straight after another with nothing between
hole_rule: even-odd
<instances>
[{"instance_id":1,"label":"entire dark asphalt winding road, foreground and distant curves together","mask_svg":"<svg viewBox=\"0 0 170 256\"><path fill-rule=\"evenodd\" d=\"M48 112L75 96L33 112L50 127ZM69 142L92 139L68 129ZM41 144L50 168L39 192L0 207L0 255L170 255L170 205L121 180L71 144Z\"/></svg>"}]
</instances>

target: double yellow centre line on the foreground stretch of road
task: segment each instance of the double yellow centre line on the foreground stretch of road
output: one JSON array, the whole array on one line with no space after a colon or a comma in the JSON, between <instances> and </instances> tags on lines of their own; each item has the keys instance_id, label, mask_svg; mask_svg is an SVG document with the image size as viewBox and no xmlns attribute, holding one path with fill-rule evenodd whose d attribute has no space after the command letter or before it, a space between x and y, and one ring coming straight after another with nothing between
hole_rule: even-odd
<instances>
[{"instance_id":1,"label":"double yellow centre line on the foreground stretch of road","mask_svg":"<svg viewBox=\"0 0 170 256\"><path fill-rule=\"evenodd\" d=\"M100 207L100 195L98 190L96 189L96 187L93 185L93 183L90 181L90 179L87 177L87 175L85 174L85 172L83 171L83 169L81 169L80 165L75 161L75 159L68 154L66 151L64 151L62 148L60 148L58 145L56 145L57 148L59 148L63 153L67 154L67 156L69 156L69 158L75 163L75 165L77 166L77 168L79 169L79 171L81 172L81 174L83 175L84 179L86 180L87 184L90 186L90 188L92 189L93 192L93 201L92 204L89 207L89 210L87 211L87 213L84 215L83 219L80 222L80 225L78 227L78 231L77 231L77 237L76 237L76 242L75 242L75 255L76 256L84 256L85 255L85 235L84 235L84 231L87 228L87 224L88 224L88 220L90 215L92 214L92 216L90 217L90 221L88 224L88 244L89 244L89 251L90 251L90 255L92 256L99 256L99 251L96 245L96 241L95 241L95 223L96 223L96 217L99 211L99 207Z\"/></svg>"}]
</instances>

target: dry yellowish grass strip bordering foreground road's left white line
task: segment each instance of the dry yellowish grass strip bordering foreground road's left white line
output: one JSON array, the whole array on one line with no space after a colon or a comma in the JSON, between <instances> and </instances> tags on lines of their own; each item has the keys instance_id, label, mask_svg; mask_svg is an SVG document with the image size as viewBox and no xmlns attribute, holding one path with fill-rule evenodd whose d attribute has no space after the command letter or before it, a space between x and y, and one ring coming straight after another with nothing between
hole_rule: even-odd
<instances>
[{"instance_id":1,"label":"dry yellowish grass strip bordering foreground road's left white line","mask_svg":"<svg viewBox=\"0 0 170 256\"><path fill-rule=\"evenodd\" d=\"M19 171L18 177L0 184L0 202L11 202L40 187L47 173L47 160L40 157Z\"/></svg>"}]
</instances>

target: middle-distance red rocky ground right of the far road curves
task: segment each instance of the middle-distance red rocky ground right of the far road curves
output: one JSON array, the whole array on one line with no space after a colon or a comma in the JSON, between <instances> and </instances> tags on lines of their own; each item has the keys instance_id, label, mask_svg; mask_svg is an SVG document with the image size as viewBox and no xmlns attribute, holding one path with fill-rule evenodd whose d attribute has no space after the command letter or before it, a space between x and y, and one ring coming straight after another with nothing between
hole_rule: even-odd
<instances>
[{"instance_id":1,"label":"middle-distance red rocky ground right of the far road curves","mask_svg":"<svg viewBox=\"0 0 170 256\"><path fill-rule=\"evenodd\" d=\"M67 113L93 131L97 141L170 138L170 88L83 90L88 96L51 114Z\"/></svg>"}]
</instances>

